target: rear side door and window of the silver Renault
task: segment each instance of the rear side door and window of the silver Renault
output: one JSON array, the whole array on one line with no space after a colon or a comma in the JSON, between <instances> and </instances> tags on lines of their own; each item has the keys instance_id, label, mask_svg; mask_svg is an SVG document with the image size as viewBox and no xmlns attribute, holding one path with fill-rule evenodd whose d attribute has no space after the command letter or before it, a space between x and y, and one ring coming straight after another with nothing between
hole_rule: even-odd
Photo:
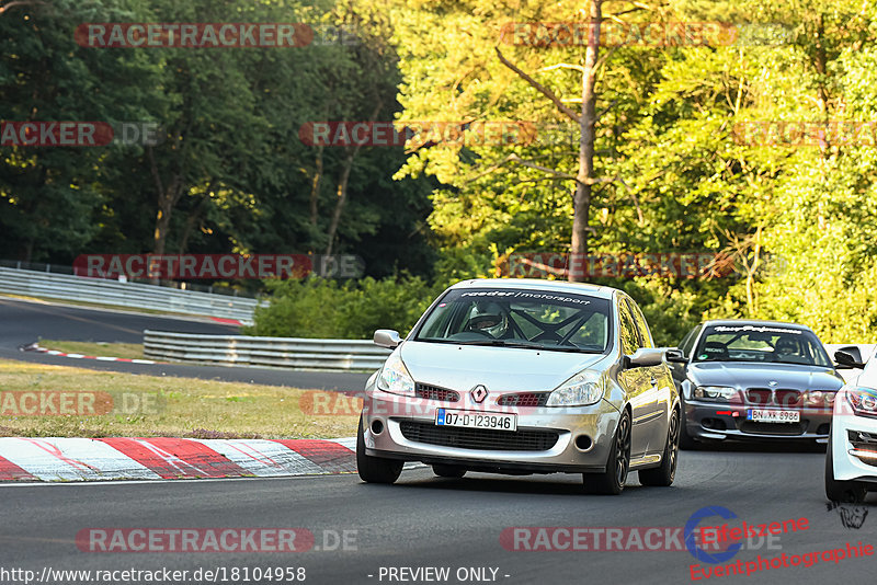
<instances>
[{"instance_id":1,"label":"rear side door and window of the silver Renault","mask_svg":"<svg viewBox=\"0 0 877 585\"><path fill-rule=\"evenodd\" d=\"M640 347L654 347L654 342L646 323L642 311L633 299L627 299L630 305L630 314L639 335ZM646 451L650 454L663 452L667 445L668 421L670 421L671 400L673 398L673 378L670 369L664 364L639 368L642 370L647 390L643 394L643 413L640 426L647 436Z\"/></svg>"}]
</instances>

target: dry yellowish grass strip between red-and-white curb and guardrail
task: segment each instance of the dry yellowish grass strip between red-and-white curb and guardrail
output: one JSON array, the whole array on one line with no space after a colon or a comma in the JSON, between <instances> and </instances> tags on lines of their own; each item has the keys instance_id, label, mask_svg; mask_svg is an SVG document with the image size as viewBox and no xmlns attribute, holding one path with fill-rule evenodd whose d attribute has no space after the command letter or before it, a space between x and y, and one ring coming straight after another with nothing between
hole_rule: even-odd
<instances>
[{"instance_id":1,"label":"dry yellowish grass strip between red-and-white curb and guardrail","mask_svg":"<svg viewBox=\"0 0 877 585\"><path fill-rule=\"evenodd\" d=\"M309 405L319 392L0 360L0 436L332 438L355 435L360 403L332 393L333 405L341 401L340 408L333 410L338 414L315 415ZM47 397L47 405L35 406ZM61 413L61 397L72 397L66 414ZM57 413L46 414L52 404ZM35 415L22 412L35 408Z\"/></svg>"}]
</instances>

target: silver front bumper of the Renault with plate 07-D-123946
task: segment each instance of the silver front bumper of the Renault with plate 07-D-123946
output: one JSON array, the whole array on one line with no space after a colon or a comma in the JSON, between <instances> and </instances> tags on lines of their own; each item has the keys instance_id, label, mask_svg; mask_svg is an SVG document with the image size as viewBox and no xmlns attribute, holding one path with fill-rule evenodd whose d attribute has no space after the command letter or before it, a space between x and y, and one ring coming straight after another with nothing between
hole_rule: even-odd
<instances>
[{"instance_id":1,"label":"silver front bumper of the Renault with plate 07-D-123946","mask_svg":"<svg viewBox=\"0 0 877 585\"><path fill-rule=\"evenodd\" d=\"M620 417L610 402L601 400L590 406L563 409L513 408L497 405L497 398L476 404L468 394L463 394L459 402L448 403L391 394L369 385L363 404L366 454L500 473L605 469ZM514 413L517 415L517 432L481 433L481 429L470 432L437 426L435 411L441 408ZM380 432L376 433L377 429ZM557 437L554 441L549 436L553 434ZM582 448L584 446L586 448Z\"/></svg>"}]
</instances>

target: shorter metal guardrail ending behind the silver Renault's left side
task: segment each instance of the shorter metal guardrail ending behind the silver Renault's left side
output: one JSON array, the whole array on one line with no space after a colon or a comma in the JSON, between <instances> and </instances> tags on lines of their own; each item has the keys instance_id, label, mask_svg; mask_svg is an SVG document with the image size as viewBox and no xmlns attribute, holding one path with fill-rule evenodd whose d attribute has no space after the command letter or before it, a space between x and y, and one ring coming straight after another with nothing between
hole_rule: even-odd
<instances>
[{"instance_id":1,"label":"shorter metal guardrail ending behind the silver Renault's left side","mask_svg":"<svg viewBox=\"0 0 877 585\"><path fill-rule=\"evenodd\" d=\"M149 359L225 366L319 370L375 370L390 351L365 340L309 340L250 335L198 335L144 331Z\"/></svg>"}]
</instances>

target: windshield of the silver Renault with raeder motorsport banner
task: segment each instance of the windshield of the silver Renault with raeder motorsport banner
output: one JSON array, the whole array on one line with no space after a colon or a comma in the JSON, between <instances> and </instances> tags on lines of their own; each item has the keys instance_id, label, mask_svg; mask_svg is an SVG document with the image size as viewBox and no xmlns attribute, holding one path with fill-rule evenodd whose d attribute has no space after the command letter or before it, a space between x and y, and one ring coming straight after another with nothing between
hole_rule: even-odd
<instances>
[{"instance_id":1,"label":"windshield of the silver Renault with raeder motorsport banner","mask_svg":"<svg viewBox=\"0 0 877 585\"><path fill-rule=\"evenodd\" d=\"M610 339L610 301L525 289L451 290L417 341L603 353Z\"/></svg>"}]
</instances>

